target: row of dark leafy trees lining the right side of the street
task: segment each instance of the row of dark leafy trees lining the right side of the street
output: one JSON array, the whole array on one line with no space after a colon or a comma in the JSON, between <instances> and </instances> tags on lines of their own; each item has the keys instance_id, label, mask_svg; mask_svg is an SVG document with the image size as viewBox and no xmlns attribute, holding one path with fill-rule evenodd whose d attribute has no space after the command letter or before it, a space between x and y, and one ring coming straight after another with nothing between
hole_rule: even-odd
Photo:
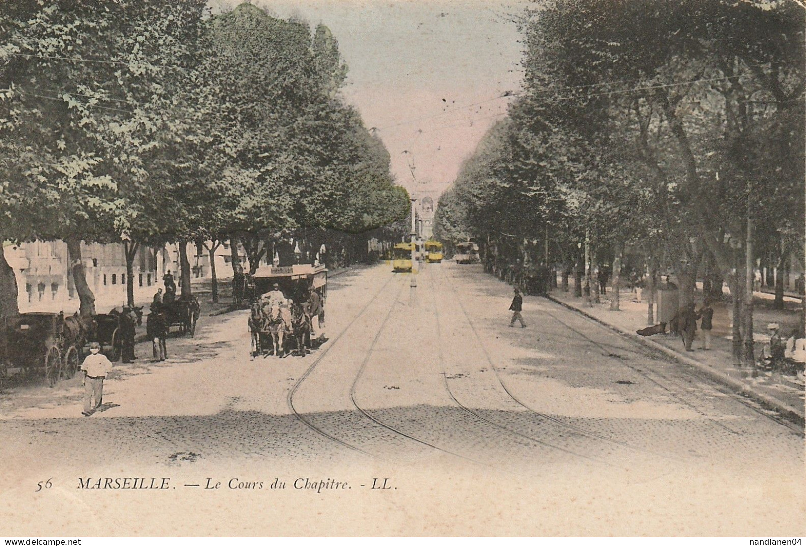
<instances>
[{"instance_id":1,"label":"row of dark leafy trees lining the right side of the street","mask_svg":"<svg viewBox=\"0 0 806 546\"><path fill-rule=\"evenodd\" d=\"M727 283L752 362L758 260L781 306L804 260L803 6L555 0L520 24L524 92L442 196L438 236L475 238L491 267L563 263L580 296L601 264L617 286L625 251L650 293L674 271L681 307L698 277L711 298Z\"/></svg>"}]
</instances>

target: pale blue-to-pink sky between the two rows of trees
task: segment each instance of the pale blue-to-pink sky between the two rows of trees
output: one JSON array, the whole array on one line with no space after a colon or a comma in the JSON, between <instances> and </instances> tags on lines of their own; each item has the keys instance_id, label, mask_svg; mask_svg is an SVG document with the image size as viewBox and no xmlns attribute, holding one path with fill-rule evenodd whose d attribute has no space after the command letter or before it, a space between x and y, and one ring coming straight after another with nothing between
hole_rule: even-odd
<instances>
[{"instance_id":1,"label":"pale blue-to-pink sky between the two rows of trees","mask_svg":"<svg viewBox=\"0 0 806 546\"><path fill-rule=\"evenodd\" d=\"M211 0L237 6L239 0ZM286 19L324 23L347 63L346 101L375 128L392 170L434 202L504 117L521 86L521 39L508 14L525 0L251 0Z\"/></svg>"}]
</instances>

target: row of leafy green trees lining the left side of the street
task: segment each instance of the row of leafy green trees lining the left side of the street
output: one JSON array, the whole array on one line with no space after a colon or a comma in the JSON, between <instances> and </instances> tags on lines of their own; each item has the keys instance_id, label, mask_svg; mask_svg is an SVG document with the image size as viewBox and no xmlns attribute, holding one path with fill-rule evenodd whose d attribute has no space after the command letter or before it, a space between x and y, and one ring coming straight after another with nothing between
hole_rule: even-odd
<instances>
[{"instance_id":1,"label":"row of leafy green trees lining the left side of the street","mask_svg":"<svg viewBox=\"0 0 806 546\"><path fill-rule=\"evenodd\" d=\"M238 248L251 269L362 244L409 210L380 139L339 90L324 25L203 0L3 2L0 240L63 239L81 314L81 241ZM364 237L363 241L366 241ZM364 243L365 244L365 243ZM0 254L2 256L2 254ZM0 316L17 312L0 258ZM131 301L130 301L131 303Z\"/></svg>"}]
</instances>

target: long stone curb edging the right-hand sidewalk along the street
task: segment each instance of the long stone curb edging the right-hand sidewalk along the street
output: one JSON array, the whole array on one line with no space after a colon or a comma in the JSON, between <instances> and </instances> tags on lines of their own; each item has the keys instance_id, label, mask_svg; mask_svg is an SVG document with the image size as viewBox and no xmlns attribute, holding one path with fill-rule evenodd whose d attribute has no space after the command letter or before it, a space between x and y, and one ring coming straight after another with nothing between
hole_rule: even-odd
<instances>
[{"instance_id":1,"label":"long stone curb edging the right-hand sidewalk along the street","mask_svg":"<svg viewBox=\"0 0 806 546\"><path fill-rule=\"evenodd\" d=\"M543 297L545 297L546 300L553 301L555 304L558 304L558 305L560 305L560 306L562 306L564 308L567 308L567 309L570 309L571 311L577 312L580 315L588 318L589 320L594 321L597 324L600 324L602 326L605 326L605 328L613 330L613 332L615 332L615 333L619 333L622 336L627 337L631 341L635 341L635 342L641 343L642 345L646 345L650 349L659 350L662 353L667 354L668 356L671 356L672 358L675 358L675 359L679 360L680 362L685 362L686 364L688 364L688 366L692 366L692 368L695 368L696 370L699 370L703 374L708 375L708 377L715 379L716 381L724 384L725 386L730 387L735 391L739 391L740 393L742 393L744 395L748 395L748 396L750 396L750 398L756 399L758 402L762 403L763 405L765 405L767 407L771 407L771 408L775 409L776 411L781 412L781 413L783 413L784 415L786 415L786 416L788 416L790 418L796 419L797 422L801 426L803 426L803 424L804 424L804 410L803 410L803 408L798 409L796 407L792 407L789 404L784 403L781 400L776 399L776 398L774 398L774 397L772 397L770 395L766 395L763 392L755 391L753 388L748 387L744 382L739 381L736 378L732 378L728 374L723 374L721 371L715 370L711 366L708 366L708 364L703 364L702 362L700 362L698 360L695 360L694 358L690 358L690 357L687 357L687 356L685 356L683 354L679 354L677 351L675 351L673 349L669 349L666 345L658 343L657 341L652 341L652 340L646 339L644 337L638 337L636 334L634 334L632 332L629 332L629 331L627 331L625 329L621 329L618 326L609 325L605 321L602 321L601 319L596 318L596 316L592 316L590 313L584 312L580 308L575 308L573 305L567 304L564 301L558 300L555 297L548 296L548 295L543 296Z\"/></svg>"}]
</instances>

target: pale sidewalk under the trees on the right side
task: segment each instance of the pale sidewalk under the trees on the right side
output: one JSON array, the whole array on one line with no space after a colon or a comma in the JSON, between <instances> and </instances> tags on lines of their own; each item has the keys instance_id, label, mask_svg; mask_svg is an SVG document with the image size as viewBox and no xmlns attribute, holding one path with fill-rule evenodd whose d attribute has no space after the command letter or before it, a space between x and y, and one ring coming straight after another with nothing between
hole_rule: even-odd
<instances>
[{"instance_id":1,"label":"pale sidewalk under the trees on the right side","mask_svg":"<svg viewBox=\"0 0 806 546\"><path fill-rule=\"evenodd\" d=\"M633 294L628 291L619 292L618 312L612 312L610 308L609 292L601 296L600 304L593 304L592 308L587 307L584 296L575 297L573 287L570 292L563 292L554 289L547 296L549 300L555 301L564 307L571 308L576 312L592 318L613 329L618 333L625 334L639 343L650 346L655 350L669 354L680 362L686 362L697 370L708 374L708 376L733 388L736 391L749 395L767 407L773 407L779 412L790 416L797 416L801 421L804 419L804 378L803 375L797 377L787 377L772 372L758 370L758 377L750 377L750 371L746 368L733 366L733 356L731 352L731 338L729 335L729 317L725 310L717 312L714 316L714 330L712 337L712 348L708 351L700 349L701 338L697 333L695 344L696 350L687 352L683 347L683 341L678 336L658 334L651 337L642 337L636 330L646 327L647 304L646 299L642 303L633 301ZM728 328L725 325L717 324L717 316L721 316L721 322L728 321ZM767 340L769 338L767 337ZM756 339L756 352L761 350L765 339Z\"/></svg>"}]
</instances>

